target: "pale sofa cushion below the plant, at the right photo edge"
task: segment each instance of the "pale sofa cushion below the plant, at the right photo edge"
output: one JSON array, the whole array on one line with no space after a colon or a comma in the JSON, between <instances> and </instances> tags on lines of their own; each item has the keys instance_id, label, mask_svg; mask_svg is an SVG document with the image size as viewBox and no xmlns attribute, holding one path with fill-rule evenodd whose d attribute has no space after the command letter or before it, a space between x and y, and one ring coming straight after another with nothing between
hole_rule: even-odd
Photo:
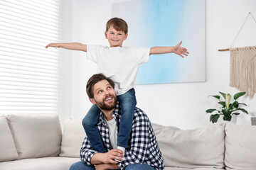
<instances>
[{"instance_id":1,"label":"pale sofa cushion below the plant, at the right photo edge","mask_svg":"<svg viewBox=\"0 0 256 170\"><path fill-rule=\"evenodd\" d=\"M225 126L226 169L252 170L256 167L256 126Z\"/></svg>"}]
</instances>

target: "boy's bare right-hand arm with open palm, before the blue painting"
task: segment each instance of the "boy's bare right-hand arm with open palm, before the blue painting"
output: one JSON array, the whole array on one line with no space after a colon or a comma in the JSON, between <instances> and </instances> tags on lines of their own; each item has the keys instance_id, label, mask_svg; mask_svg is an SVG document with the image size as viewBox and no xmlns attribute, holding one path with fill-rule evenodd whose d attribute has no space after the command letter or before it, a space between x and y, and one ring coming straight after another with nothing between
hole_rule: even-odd
<instances>
[{"instance_id":1,"label":"boy's bare right-hand arm with open palm, before the blue painting","mask_svg":"<svg viewBox=\"0 0 256 170\"><path fill-rule=\"evenodd\" d=\"M174 52L176 55L181 57L188 56L188 50L185 47L181 47L181 42L179 42L174 47L151 47L150 48L150 55L161 55L166 53Z\"/></svg>"}]
</instances>

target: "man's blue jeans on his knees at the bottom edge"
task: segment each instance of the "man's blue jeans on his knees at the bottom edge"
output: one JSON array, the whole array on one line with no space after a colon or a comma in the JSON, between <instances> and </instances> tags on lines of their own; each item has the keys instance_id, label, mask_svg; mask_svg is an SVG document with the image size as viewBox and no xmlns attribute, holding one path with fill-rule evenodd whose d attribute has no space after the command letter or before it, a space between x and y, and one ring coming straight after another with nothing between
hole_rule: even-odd
<instances>
[{"instance_id":1,"label":"man's blue jeans on his knees at the bottom edge","mask_svg":"<svg viewBox=\"0 0 256 170\"><path fill-rule=\"evenodd\" d=\"M95 166L89 166L85 162L76 162L70 166L70 170L95 170ZM129 164L125 170L156 170L148 164Z\"/></svg>"}]
</instances>

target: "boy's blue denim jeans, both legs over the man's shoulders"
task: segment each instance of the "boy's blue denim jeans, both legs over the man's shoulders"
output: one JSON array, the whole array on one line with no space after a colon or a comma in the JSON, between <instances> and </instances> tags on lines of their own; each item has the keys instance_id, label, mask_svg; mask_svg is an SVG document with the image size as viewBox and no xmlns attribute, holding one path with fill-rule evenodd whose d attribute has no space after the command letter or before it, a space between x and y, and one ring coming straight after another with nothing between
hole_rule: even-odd
<instances>
[{"instance_id":1,"label":"boy's blue denim jeans, both legs over the man's shoulders","mask_svg":"<svg viewBox=\"0 0 256 170\"><path fill-rule=\"evenodd\" d=\"M117 146L127 148L129 135L132 130L132 120L134 117L134 108L137 104L135 91L130 89L125 94L117 96L121 108L121 120L117 137ZM107 152L103 145L100 132L97 129L97 122L100 116L100 108L93 105L82 120L82 126L85 129L92 149L97 152Z\"/></svg>"}]
</instances>

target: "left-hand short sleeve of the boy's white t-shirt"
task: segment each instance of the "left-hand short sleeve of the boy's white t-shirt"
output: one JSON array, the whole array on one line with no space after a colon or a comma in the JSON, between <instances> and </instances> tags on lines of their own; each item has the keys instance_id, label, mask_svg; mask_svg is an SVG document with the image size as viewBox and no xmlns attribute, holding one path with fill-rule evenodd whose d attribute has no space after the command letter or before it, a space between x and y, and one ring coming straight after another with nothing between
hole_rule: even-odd
<instances>
[{"instance_id":1,"label":"left-hand short sleeve of the boy's white t-shirt","mask_svg":"<svg viewBox=\"0 0 256 170\"><path fill-rule=\"evenodd\" d=\"M102 56L104 48L102 45L87 45L87 59L97 62L98 57Z\"/></svg>"}]
</instances>

